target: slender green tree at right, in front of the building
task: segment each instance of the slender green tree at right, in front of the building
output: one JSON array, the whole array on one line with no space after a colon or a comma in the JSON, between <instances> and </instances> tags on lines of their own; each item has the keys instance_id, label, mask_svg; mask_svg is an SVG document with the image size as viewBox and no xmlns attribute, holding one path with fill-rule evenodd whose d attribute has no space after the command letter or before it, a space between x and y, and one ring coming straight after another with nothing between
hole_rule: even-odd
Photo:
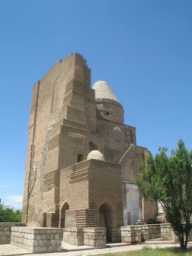
<instances>
[{"instance_id":1,"label":"slender green tree at right, in front of the building","mask_svg":"<svg viewBox=\"0 0 192 256\"><path fill-rule=\"evenodd\" d=\"M180 247L186 248L192 228L192 150L188 151L180 139L171 156L167 148L159 148L159 154L154 158L149 154L139 169L143 175L136 183L144 199L152 204L159 202L179 237Z\"/></svg>"}]
</instances>

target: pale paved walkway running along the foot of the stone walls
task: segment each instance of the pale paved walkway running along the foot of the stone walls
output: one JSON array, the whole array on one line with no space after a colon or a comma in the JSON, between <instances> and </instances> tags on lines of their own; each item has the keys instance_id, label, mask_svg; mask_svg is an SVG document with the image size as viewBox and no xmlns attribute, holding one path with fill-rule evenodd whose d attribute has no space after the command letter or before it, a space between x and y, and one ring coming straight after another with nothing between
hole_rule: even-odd
<instances>
[{"instance_id":1,"label":"pale paved walkway running along the foot of the stone walls","mask_svg":"<svg viewBox=\"0 0 192 256\"><path fill-rule=\"evenodd\" d=\"M142 250L143 246L148 245L151 248L156 246L160 248L165 247L179 247L179 243L174 243L172 241L147 241L142 244L126 245L125 243L119 244L107 244L107 248L104 249L92 249L90 246L75 246L63 243L62 252L52 252L52 253L38 253L33 254L34 256L89 256L89 255L102 255L109 253L121 253L121 252L131 252ZM192 247L192 242L188 242L188 246ZM77 251L78 250L78 251ZM12 244L2 244L0 245L0 255L30 255L31 252L24 250L20 247L14 246Z\"/></svg>"}]
</instances>

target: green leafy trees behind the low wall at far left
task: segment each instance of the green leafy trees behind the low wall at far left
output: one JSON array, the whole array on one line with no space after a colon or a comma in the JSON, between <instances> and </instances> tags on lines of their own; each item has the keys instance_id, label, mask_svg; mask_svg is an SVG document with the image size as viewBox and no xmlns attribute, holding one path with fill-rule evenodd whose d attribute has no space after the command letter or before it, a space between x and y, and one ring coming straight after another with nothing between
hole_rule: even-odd
<instances>
[{"instance_id":1,"label":"green leafy trees behind the low wall at far left","mask_svg":"<svg viewBox=\"0 0 192 256\"><path fill-rule=\"evenodd\" d=\"M21 209L0 204L0 222L21 222Z\"/></svg>"}]
</instances>

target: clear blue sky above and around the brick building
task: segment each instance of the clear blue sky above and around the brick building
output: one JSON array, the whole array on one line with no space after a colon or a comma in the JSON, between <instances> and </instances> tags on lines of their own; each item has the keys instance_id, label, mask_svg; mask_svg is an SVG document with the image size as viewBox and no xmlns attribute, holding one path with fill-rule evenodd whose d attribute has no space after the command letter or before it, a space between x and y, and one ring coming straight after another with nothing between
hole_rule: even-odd
<instances>
[{"instance_id":1,"label":"clear blue sky above and around the brick building","mask_svg":"<svg viewBox=\"0 0 192 256\"><path fill-rule=\"evenodd\" d=\"M0 1L4 204L22 206L33 85L71 52L109 84L137 145L192 149L191 13L191 0Z\"/></svg>"}]
</instances>

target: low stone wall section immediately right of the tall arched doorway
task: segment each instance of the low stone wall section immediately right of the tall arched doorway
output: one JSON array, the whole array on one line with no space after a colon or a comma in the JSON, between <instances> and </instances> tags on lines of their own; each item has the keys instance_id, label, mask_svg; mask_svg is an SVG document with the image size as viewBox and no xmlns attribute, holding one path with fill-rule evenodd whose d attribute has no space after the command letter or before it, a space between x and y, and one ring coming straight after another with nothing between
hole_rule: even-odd
<instances>
[{"instance_id":1,"label":"low stone wall section immediately right of the tall arched doorway","mask_svg":"<svg viewBox=\"0 0 192 256\"><path fill-rule=\"evenodd\" d=\"M121 227L121 240L125 243L141 242L141 226Z\"/></svg>"}]
</instances>

